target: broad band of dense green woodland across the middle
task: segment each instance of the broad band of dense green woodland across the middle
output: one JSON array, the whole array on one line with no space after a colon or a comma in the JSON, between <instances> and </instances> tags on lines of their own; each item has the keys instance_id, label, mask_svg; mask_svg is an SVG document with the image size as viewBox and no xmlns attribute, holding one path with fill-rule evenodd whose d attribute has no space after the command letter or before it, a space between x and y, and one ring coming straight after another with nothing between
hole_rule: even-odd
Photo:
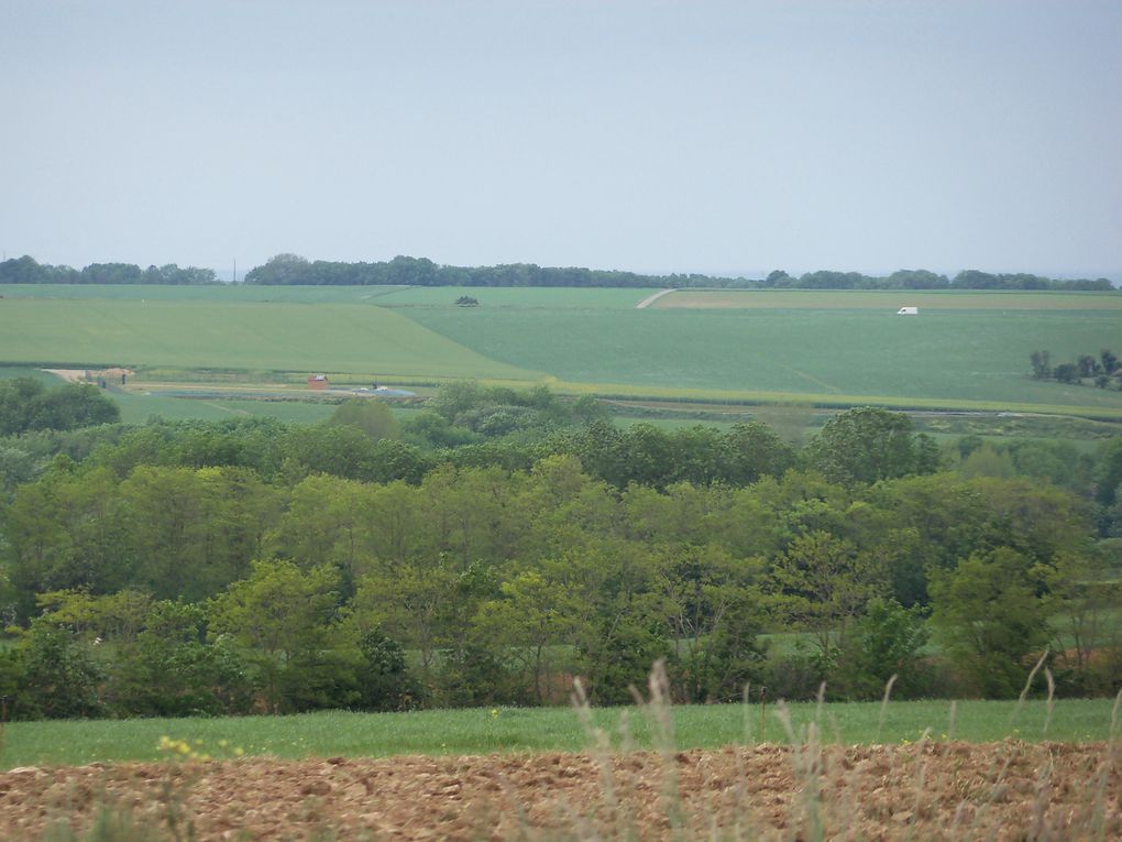
<instances>
[{"instance_id":1,"label":"broad band of dense green woodland across the middle","mask_svg":"<svg viewBox=\"0 0 1122 842\"><path fill-rule=\"evenodd\" d=\"M657 658L691 702L1015 696L1046 648L1060 693L1122 677L1122 438L858 409L795 447L475 384L403 424L36 418L0 439L16 716L611 704Z\"/></svg>"}]
</instances>

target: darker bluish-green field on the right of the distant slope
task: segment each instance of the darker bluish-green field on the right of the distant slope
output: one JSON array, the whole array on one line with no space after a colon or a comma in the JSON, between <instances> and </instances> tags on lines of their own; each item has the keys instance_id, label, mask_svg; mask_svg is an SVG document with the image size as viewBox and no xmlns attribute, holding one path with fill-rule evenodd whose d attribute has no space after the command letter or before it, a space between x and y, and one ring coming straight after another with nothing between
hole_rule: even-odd
<instances>
[{"instance_id":1,"label":"darker bluish-green field on the right of the distant slope","mask_svg":"<svg viewBox=\"0 0 1122 842\"><path fill-rule=\"evenodd\" d=\"M482 356L608 393L1122 411L1118 391L1029 377L1033 350L1056 363L1118 350L1119 310L403 312Z\"/></svg>"}]
</instances>

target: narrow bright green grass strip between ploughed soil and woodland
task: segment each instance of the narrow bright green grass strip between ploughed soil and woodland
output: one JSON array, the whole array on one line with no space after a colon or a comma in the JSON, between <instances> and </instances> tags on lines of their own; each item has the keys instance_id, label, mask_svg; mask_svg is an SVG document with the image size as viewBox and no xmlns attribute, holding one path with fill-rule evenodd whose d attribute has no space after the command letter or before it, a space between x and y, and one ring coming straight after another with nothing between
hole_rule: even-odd
<instances>
[{"instance_id":1,"label":"narrow bright green grass strip between ploughed soil and woodland","mask_svg":"<svg viewBox=\"0 0 1122 842\"><path fill-rule=\"evenodd\" d=\"M1058 701L1047 730L1047 705L1041 701L1021 708L1013 702L892 702L883 725L877 703L828 704L820 717L812 703L792 704L790 712L797 731L818 717L826 741L846 744L916 742L925 730L931 740L1087 742L1109 739L1112 705L1111 699ZM617 745L624 715L635 744L651 744L652 730L642 711L605 708L592 714ZM763 727L758 705L679 706L672 715L679 749L788 741L771 704ZM568 707L16 722L7 727L0 768L153 760L160 736L202 740L204 751L217 751L219 740L226 740L231 750L241 748L248 756L282 758L580 751L590 744L577 712Z\"/></svg>"}]
</instances>

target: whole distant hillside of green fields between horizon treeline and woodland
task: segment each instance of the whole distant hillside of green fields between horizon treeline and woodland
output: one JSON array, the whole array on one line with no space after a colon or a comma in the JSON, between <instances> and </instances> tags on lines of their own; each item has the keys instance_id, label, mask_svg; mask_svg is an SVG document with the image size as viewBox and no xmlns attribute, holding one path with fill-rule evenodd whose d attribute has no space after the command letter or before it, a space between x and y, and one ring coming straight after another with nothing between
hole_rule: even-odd
<instances>
[{"instance_id":1,"label":"whole distant hillside of green fields between horizon treeline and woodland","mask_svg":"<svg viewBox=\"0 0 1122 842\"><path fill-rule=\"evenodd\" d=\"M324 372L414 383L545 383L646 400L1122 419L1118 390L1028 376L1038 349L1054 363L1122 350L1122 295L688 292L636 310L649 292L8 286L0 363L123 365L162 369L173 381L199 369L286 372L295 379ZM48 293L59 298L36 298ZM105 298L75 298L98 293ZM475 295L480 306L456 306L460 294ZM921 315L896 317L899 296ZM675 299L758 303L663 306Z\"/></svg>"}]
</instances>

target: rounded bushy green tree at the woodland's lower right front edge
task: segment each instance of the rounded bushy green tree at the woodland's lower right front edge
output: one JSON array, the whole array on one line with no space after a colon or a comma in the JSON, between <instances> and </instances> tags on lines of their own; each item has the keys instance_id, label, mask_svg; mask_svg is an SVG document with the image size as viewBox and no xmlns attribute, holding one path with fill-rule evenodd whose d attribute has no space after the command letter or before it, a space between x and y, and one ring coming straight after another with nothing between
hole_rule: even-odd
<instances>
[{"instance_id":1,"label":"rounded bushy green tree at the woodland's lower right front edge","mask_svg":"<svg viewBox=\"0 0 1122 842\"><path fill-rule=\"evenodd\" d=\"M1017 550L999 547L974 552L954 570L932 571L931 624L971 693L1017 696L1027 659L1051 637L1049 606L1030 567Z\"/></svg>"}]
</instances>

